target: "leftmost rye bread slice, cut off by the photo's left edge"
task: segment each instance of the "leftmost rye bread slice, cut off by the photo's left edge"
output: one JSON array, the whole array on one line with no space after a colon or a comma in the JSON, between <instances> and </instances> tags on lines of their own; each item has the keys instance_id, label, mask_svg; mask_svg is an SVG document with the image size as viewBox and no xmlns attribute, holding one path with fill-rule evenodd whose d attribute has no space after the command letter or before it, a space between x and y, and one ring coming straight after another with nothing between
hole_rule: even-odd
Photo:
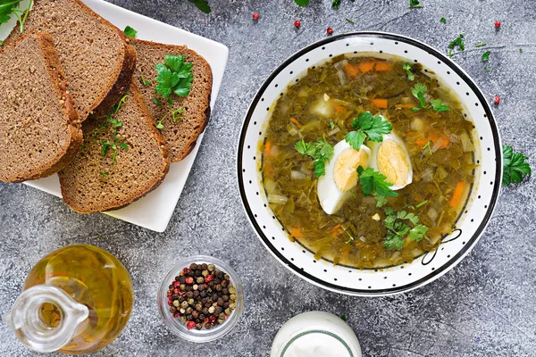
<instances>
[{"instance_id":1,"label":"leftmost rye bread slice, cut off by the photo's left edge","mask_svg":"<svg viewBox=\"0 0 536 357\"><path fill-rule=\"evenodd\" d=\"M54 40L46 33L29 33L0 48L0 63L0 179L50 176L82 145Z\"/></svg>"}]
</instances>

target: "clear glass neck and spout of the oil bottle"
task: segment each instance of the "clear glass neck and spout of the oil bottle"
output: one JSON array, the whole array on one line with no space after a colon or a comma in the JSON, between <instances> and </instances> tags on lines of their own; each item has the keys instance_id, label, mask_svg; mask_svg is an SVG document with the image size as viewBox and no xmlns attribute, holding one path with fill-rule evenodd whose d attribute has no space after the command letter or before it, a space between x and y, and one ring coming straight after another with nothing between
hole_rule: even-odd
<instances>
[{"instance_id":1,"label":"clear glass neck and spout of the oil bottle","mask_svg":"<svg viewBox=\"0 0 536 357\"><path fill-rule=\"evenodd\" d=\"M67 345L80 324L88 318L88 307L74 301L56 286L38 285L24 290L4 315L24 345L41 353Z\"/></svg>"}]
</instances>

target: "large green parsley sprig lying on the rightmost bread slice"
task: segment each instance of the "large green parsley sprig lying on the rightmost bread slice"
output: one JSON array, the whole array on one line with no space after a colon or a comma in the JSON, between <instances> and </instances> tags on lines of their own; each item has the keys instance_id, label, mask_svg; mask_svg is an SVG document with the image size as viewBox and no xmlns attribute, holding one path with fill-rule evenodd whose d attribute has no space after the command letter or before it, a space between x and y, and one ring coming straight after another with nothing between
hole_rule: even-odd
<instances>
[{"instance_id":1,"label":"large green parsley sprig lying on the rightmost bread slice","mask_svg":"<svg viewBox=\"0 0 536 357\"><path fill-rule=\"evenodd\" d=\"M168 54L164 57L164 63L156 63L155 87L156 93L163 98L175 93L179 96L187 96L192 87L194 76L192 74L192 63L184 62L181 55Z\"/></svg>"}]
</instances>

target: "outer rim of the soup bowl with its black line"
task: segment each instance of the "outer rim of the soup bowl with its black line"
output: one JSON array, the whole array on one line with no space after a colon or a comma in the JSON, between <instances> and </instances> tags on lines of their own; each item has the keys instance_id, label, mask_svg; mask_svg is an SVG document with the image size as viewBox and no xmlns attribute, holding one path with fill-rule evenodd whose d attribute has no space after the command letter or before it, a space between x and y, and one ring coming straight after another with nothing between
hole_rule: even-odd
<instances>
[{"instance_id":1,"label":"outer rim of the soup bowl with its black line","mask_svg":"<svg viewBox=\"0 0 536 357\"><path fill-rule=\"evenodd\" d=\"M438 58L440 61L448 65L448 67L452 71L455 71L456 74L465 81L465 83L473 90L474 95L476 95L479 101L482 103L483 110L486 112L487 119L490 123L490 130L493 136L494 149L495 149L495 152L498 153L497 160L496 160L496 175L495 175L496 184L493 187L490 204L489 204L486 214L484 215L482 219L482 222L480 223L479 227L475 230L473 236L467 240L467 244L464 245L464 247L458 253L456 253L456 255L452 257L447 263L440 266L440 268L432 271L431 273L427 274L423 278L415 280L414 282L407 284L405 286L397 286L397 287L392 287L392 288L383 288L383 289L378 289L374 291L367 291L363 289L356 289L356 288L350 288L346 286L338 286L335 284L331 284L327 281L314 277L313 275L307 273L304 270L299 269L293 262L290 262L289 259L287 259L283 254L281 254L271 244L268 237L264 235L263 230L257 224L254 214L251 210L251 207L249 206L249 203L247 202L247 195L244 190L244 180L242 179L242 156L243 156L243 151L244 151L247 128L249 126L249 122L253 116L253 113L255 112L255 107L259 103L264 91L267 89L267 87L270 86L270 84L272 83L272 80L275 79L281 73L281 71L287 68L289 64L297 60L297 58L301 57L304 54L307 54L308 52L314 50L315 48L319 46L330 44L331 42L339 41L343 38L348 38L348 37L376 37L376 38L387 38L387 39L394 40L394 41L402 41L408 45L423 49L424 51L428 52L429 54L432 54L433 56ZM469 76L469 74L465 72L458 64L456 64L456 62L448 58L447 55L442 54L440 50L436 49L435 47L427 45L423 43L422 41L415 40L414 38L411 38L411 37L406 37L403 35L398 35L398 34L383 32L383 31L354 31L354 32L348 32L345 34L340 34L340 35L336 35L332 37L323 38L319 41L312 43L311 45L308 45L298 50L296 53L290 55L289 58L287 58L284 62L282 62L274 71L272 71L270 76L264 80L263 85L259 88L255 96L253 97L247 109L246 116L244 120L242 121L242 128L240 129L239 143L237 147L237 169L238 169L237 175L238 175L240 201L242 203L242 207L244 208L246 212L247 219L249 220L251 226L254 228L256 236L261 240L264 247L266 247L266 249L270 253L272 253L272 255L279 262L281 262L288 270L296 274L298 277L304 278L306 281L314 284L315 286L320 286L324 289L327 289L327 290L330 290L339 294L365 296L365 297L366 296L396 295L396 294L414 290L417 287L424 286L426 284L431 283L433 280L440 278L442 275L447 273L448 270L451 270L459 262L461 262L462 259L465 257L465 255L467 255L468 253L472 251L474 245L476 245L480 237L482 237L482 233L484 232L485 228L490 223L490 218L493 215L493 212L495 211L495 206L498 201L498 196L499 196L500 189L501 189L502 175L503 175L502 161L503 161L502 142L501 142L501 138L498 132L497 121L495 120L495 116L493 115L493 112L491 111L490 103L486 100L486 97L482 93L482 90L480 89L480 87L477 86L477 84Z\"/></svg>"}]
</instances>

